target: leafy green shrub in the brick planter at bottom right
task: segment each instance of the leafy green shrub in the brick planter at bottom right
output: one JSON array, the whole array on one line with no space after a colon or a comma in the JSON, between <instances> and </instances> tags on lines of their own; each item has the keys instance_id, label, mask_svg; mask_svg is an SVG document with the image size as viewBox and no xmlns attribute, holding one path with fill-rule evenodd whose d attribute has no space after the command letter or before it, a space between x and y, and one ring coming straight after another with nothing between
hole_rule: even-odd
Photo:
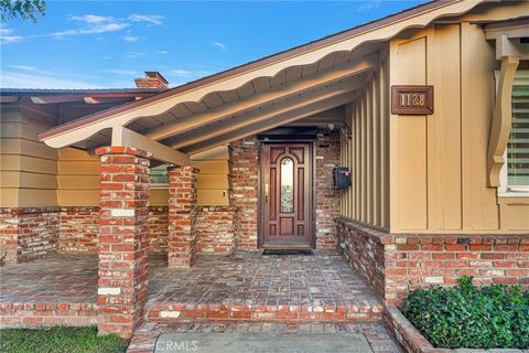
<instances>
[{"instance_id":1,"label":"leafy green shrub in the brick planter at bottom right","mask_svg":"<svg viewBox=\"0 0 529 353\"><path fill-rule=\"evenodd\" d=\"M519 285L476 288L472 279L412 290L402 313L435 347L528 349L529 291Z\"/></svg>"}]
</instances>

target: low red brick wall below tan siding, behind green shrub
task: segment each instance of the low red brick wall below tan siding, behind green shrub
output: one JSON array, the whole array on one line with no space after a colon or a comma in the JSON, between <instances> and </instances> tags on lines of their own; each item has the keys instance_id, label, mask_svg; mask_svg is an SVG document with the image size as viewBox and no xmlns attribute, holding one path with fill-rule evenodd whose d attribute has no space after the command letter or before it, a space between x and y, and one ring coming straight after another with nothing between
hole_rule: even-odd
<instances>
[{"instance_id":1,"label":"low red brick wall below tan siding, behind green shrub","mask_svg":"<svg viewBox=\"0 0 529 353\"><path fill-rule=\"evenodd\" d=\"M336 222L338 249L387 303L401 304L410 289L453 286L462 276L529 288L529 234L392 235Z\"/></svg>"}]
</instances>

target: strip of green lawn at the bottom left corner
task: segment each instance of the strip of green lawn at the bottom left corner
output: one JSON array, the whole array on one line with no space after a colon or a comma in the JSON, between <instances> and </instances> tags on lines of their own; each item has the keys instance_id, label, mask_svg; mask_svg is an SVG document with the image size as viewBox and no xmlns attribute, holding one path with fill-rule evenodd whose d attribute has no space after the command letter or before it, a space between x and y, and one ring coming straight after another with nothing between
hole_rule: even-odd
<instances>
[{"instance_id":1,"label":"strip of green lawn at the bottom left corner","mask_svg":"<svg viewBox=\"0 0 529 353\"><path fill-rule=\"evenodd\" d=\"M0 330L2 353L117 353L128 343L116 335L98 336L96 328Z\"/></svg>"}]
</instances>

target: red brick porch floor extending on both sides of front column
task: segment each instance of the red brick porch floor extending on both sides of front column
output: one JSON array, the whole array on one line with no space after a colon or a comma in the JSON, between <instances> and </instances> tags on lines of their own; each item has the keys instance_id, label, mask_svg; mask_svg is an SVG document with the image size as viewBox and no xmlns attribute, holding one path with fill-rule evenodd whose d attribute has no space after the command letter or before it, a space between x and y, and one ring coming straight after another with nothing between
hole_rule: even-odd
<instances>
[{"instance_id":1,"label":"red brick porch floor extending on both sides of front column","mask_svg":"<svg viewBox=\"0 0 529 353\"><path fill-rule=\"evenodd\" d=\"M74 309L96 309L95 256L52 255L0 271L2 309L17 309L15 303L26 306L25 310L33 310L35 304L48 310L69 308L72 303ZM202 256L190 269L169 269L163 256L150 258L150 321L365 322L378 321L382 308L360 277L332 250L316 255Z\"/></svg>"}]
</instances>

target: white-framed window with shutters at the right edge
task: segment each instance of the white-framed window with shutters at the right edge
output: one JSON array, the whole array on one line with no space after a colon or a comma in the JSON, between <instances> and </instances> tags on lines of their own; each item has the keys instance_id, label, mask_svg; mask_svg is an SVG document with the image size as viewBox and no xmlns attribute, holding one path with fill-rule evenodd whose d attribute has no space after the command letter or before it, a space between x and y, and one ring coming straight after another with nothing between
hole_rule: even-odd
<instances>
[{"instance_id":1,"label":"white-framed window with shutters at the right edge","mask_svg":"<svg viewBox=\"0 0 529 353\"><path fill-rule=\"evenodd\" d=\"M499 192L529 193L529 71L516 73L512 84L512 126L504 154Z\"/></svg>"}]
</instances>

